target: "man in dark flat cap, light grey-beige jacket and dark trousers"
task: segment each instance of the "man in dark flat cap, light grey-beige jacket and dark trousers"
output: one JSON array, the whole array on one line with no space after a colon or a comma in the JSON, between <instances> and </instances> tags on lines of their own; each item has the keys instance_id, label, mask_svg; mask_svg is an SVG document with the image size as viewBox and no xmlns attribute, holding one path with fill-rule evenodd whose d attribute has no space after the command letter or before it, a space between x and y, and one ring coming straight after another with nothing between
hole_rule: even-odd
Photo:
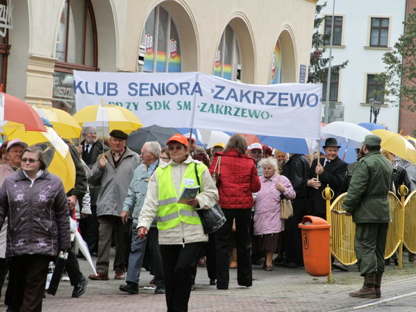
<instances>
[{"instance_id":1,"label":"man in dark flat cap, light grey-beige jacket and dark trousers","mask_svg":"<svg viewBox=\"0 0 416 312\"><path fill-rule=\"evenodd\" d=\"M99 221L99 243L97 275L90 279L108 280L111 234L115 232L115 279L124 279L126 271L126 239L120 214L127 196L128 186L135 168L140 165L140 156L126 146L128 135L121 130L110 132L110 150L100 155L88 173L88 182L99 186L97 216Z\"/></svg>"}]
</instances>

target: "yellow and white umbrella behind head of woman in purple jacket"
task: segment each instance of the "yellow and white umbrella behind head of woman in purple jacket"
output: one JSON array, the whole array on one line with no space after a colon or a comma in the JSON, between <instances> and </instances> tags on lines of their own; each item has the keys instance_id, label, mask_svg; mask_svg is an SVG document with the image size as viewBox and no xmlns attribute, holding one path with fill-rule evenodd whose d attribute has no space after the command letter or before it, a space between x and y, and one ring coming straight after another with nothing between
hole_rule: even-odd
<instances>
[{"instance_id":1,"label":"yellow and white umbrella behind head of woman in purple jacket","mask_svg":"<svg viewBox=\"0 0 416 312\"><path fill-rule=\"evenodd\" d=\"M47 132L29 131L22 129L4 128L8 140L21 139L28 145L39 145L44 151L48 171L58 175L63 181L65 191L74 188L75 165L69 147L53 128L46 127Z\"/></svg>"}]
</instances>

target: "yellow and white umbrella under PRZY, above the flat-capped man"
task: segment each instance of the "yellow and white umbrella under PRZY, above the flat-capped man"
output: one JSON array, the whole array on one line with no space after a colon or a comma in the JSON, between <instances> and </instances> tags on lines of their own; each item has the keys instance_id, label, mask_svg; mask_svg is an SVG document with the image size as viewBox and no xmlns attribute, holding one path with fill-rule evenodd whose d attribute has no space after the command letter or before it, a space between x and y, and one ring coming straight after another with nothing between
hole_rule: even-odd
<instances>
[{"instance_id":1,"label":"yellow and white umbrella under PRZY, above the flat-capped man","mask_svg":"<svg viewBox=\"0 0 416 312\"><path fill-rule=\"evenodd\" d=\"M89 105L74 114L80 124L95 122L94 125L108 126L109 130L122 130L129 134L143 124L135 114L116 105Z\"/></svg>"}]
</instances>

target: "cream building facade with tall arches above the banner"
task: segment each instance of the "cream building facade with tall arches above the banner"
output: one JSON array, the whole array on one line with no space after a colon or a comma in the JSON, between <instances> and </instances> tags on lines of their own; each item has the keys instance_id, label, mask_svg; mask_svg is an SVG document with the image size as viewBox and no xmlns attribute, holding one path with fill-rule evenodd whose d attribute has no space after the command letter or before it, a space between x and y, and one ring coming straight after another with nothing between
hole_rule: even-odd
<instances>
[{"instance_id":1,"label":"cream building facade with tall arches above the banner","mask_svg":"<svg viewBox=\"0 0 416 312\"><path fill-rule=\"evenodd\" d=\"M309 64L316 4L1 1L8 12L7 34L0 41L3 89L28 103L42 100L71 113L74 69L199 71L258 85L297 83L304 79L301 68Z\"/></svg>"}]
</instances>

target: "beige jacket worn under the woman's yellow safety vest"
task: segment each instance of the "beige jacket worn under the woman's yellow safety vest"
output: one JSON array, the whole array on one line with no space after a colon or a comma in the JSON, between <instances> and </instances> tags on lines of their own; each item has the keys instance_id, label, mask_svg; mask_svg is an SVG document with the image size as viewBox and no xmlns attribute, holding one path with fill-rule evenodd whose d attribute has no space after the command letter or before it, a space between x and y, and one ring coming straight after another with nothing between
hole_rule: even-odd
<instances>
[{"instance_id":1,"label":"beige jacket worn under the woman's yellow safety vest","mask_svg":"<svg viewBox=\"0 0 416 312\"><path fill-rule=\"evenodd\" d=\"M172 182L176 188L176 193L180 193L181 182L186 168L194 162L201 164L198 160L188 158L182 164L177 164L173 160L168 163L160 162L161 167L172 166ZM218 190L215 187L213 178L210 176L208 168L203 171L201 176L201 184L203 192L199 193L197 198L199 200L199 207L201 209L209 209L218 202ZM142 211L138 218L138 228L150 228L153 218L158 212L158 175L152 175L147 189L147 196L144 199ZM159 230L159 244L160 245L183 245L185 243L196 243L199 241L208 241L208 235L203 232L202 225L194 225L188 223L179 223L178 226L171 229Z\"/></svg>"}]
</instances>

